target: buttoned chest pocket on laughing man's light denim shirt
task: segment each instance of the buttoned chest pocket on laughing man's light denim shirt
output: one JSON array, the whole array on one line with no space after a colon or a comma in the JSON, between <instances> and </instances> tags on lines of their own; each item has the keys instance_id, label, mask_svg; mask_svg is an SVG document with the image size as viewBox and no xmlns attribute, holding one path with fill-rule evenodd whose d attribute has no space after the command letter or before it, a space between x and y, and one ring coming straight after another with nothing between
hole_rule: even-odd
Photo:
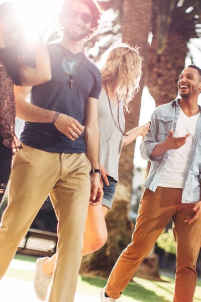
<instances>
[{"instance_id":1,"label":"buttoned chest pocket on laughing man's light denim shirt","mask_svg":"<svg viewBox=\"0 0 201 302\"><path fill-rule=\"evenodd\" d=\"M172 116L158 116L158 142L166 140L169 130L173 128L173 120L174 117Z\"/></svg>"}]
</instances>

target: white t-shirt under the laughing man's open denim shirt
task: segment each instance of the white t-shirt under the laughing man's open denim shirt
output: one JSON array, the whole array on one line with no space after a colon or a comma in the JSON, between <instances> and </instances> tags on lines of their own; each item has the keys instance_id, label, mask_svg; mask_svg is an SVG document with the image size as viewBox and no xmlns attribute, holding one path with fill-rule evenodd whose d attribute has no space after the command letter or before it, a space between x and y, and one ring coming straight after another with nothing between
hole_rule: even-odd
<instances>
[{"instance_id":1,"label":"white t-shirt under the laughing man's open denim shirt","mask_svg":"<svg viewBox=\"0 0 201 302\"><path fill-rule=\"evenodd\" d=\"M180 108L174 136L184 136L187 133L190 135L183 146L171 150L167 162L161 170L161 178L158 186L183 188L185 169L189 160L199 114L200 113L197 113L188 117Z\"/></svg>"}]
</instances>

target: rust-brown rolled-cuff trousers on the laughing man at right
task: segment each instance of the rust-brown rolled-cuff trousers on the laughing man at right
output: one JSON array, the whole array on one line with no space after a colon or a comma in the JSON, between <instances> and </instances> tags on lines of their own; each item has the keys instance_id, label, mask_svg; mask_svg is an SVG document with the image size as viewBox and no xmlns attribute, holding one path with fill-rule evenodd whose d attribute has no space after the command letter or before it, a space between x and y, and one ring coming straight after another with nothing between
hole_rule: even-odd
<instances>
[{"instance_id":1,"label":"rust-brown rolled-cuff trousers on the laughing man at right","mask_svg":"<svg viewBox=\"0 0 201 302\"><path fill-rule=\"evenodd\" d=\"M172 218L177 244L174 302L193 301L197 277L195 265L201 245L201 216L192 224L184 222L186 216L193 215L193 204L181 204L181 194L182 189L158 187L155 193L145 190L132 243L120 255L108 279L106 292L110 297L120 297Z\"/></svg>"}]
</instances>

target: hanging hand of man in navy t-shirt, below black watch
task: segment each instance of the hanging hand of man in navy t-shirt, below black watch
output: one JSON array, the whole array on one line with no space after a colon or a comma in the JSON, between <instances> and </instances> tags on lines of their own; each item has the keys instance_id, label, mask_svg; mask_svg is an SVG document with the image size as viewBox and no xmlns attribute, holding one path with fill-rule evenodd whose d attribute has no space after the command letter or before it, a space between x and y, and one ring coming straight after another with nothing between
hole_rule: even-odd
<instances>
[{"instance_id":1,"label":"hanging hand of man in navy t-shirt, below black watch","mask_svg":"<svg viewBox=\"0 0 201 302\"><path fill-rule=\"evenodd\" d=\"M90 175L91 180L91 196L89 199L90 205L98 205L102 202L104 191L102 184L100 183L99 173L93 173Z\"/></svg>"}]
</instances>

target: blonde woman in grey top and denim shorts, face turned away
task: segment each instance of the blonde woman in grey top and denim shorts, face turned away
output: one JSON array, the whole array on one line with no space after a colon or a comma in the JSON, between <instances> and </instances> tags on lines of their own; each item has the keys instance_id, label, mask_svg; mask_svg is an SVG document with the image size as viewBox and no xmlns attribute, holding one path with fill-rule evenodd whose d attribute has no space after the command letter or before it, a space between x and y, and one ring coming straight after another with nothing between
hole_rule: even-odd
<instances>
[{"instance_id":1,"label":"blonde woman in grey top and denim shorts, face turned away","mask_svg":"<svg viewBox=\"0 0 201 302\"><path fill-rule=\"evenodd\" d=\"M82 255L105 244L108 236L105 215L112 207L121 149L139 135L144 138L150 126L148 122L125 133L124 110L129 112L129 102L139 89L141 77L142 58L138 48L127 43L110 47L100 57L98 65L103 81L98 102L98 126L104 197L102 204L89 203ZM36 262L34 288L41 300L46 298L55 261L56 254L51 258L39 258Z\"/></svg>"}]
</instances>

